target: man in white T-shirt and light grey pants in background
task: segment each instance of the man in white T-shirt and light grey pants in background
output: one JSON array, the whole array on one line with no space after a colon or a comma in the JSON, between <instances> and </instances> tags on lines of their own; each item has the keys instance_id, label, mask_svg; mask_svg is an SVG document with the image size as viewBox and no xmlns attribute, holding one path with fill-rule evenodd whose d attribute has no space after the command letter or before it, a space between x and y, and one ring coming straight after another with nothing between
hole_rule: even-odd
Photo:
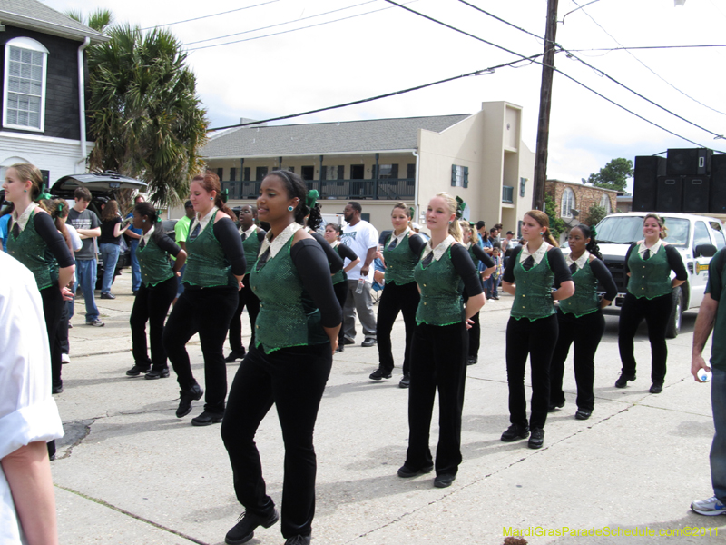
<instances>
[{"instance_id":1,"label":"man in white T-shirt and light grey pants in background","mask_svg":"<svg viewBox=\"0 0 726 545\"><path fill-rule=\"evenodd\" d=\"M353 344L356 338L356 312L363 328L364 340L361 346L376 343L376 315L370 289L373 284L373 268L378 249L378 231L365 220L360 219L363 209L360 203L351 201L343 209L343 219L348 223L343 227L340 242L348 246L360 258L360 263L348 271L348 297L343 308L343 330L345 344ZM348 266L346 259L344 266ZM363 279L362 290L358 292L359 279Z\"/></svg>"}]
</instances>

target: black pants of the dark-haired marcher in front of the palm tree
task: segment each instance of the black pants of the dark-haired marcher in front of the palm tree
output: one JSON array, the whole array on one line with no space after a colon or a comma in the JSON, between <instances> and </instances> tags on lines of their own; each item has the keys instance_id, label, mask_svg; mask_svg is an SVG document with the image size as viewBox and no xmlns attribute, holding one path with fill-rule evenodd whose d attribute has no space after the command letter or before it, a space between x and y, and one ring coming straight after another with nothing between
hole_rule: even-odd
<instances>
[{"instance_id":1,"label":"black pants of the dark-haired marcher in front of the palm tree","mask_svg":"<svg viewBox=\"0 0 726 545\"><path fill-rule=\"evenodd\" d=\"M169 307L176 297L176 276L158 283L155 286L146 286L143 282L136 292L131 311L131 340L133 362L145 367L150 363L154 369L166 368L166 351L162 342L164 320ZM146 350L146 322L149 322L149 340L152 347L152 359Z\"/></svg>"}]
</instances>

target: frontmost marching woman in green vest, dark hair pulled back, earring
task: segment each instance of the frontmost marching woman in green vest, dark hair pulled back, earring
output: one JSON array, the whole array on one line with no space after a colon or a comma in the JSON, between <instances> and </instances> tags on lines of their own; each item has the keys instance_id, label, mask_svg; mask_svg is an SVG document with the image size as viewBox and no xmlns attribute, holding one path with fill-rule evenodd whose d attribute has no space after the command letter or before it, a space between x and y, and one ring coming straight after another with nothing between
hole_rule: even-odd
<instances>
[{"instance_id":1,"label":"frontmost marching woman in green vest, dark hair pulled back, earring","mask_svg":"<svg viewBox=\"0 0 726 545\"><path fill-rule=\"evenodd\" d=\"M285 443L282 536L288 545L310 542L315 513L313 431L338 342L342 312L328 259L302 226L308 213L299 175L273 171L260 185L257 208L270 231L250 274L260 297L255 344L230 390L221 437L230 455L234 490L245 512L225 542L245 543L258 526L279 520L262 478L254 437L274 404Z\"/></svg>"}]
</instances>

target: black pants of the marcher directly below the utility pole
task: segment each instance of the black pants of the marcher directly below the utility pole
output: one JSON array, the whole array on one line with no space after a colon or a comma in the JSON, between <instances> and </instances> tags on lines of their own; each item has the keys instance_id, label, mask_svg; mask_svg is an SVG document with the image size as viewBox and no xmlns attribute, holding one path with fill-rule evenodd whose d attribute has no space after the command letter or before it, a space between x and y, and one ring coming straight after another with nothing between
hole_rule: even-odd
<instances>
[{"instance_id":1,"label":"black pants of the marcher directly below the utility pole","mask_svg":"<svg viewBox=\"0 0 726 545\"><path fill-rule=\"evenodd\" d=\"M557 316L530 322L510 318L506 325L506 381L509 385L509 421L527 425L525 368L532 367L532 428L544 428L550 402L550 362L557 343Z\"/></svg>"}]
</instances>

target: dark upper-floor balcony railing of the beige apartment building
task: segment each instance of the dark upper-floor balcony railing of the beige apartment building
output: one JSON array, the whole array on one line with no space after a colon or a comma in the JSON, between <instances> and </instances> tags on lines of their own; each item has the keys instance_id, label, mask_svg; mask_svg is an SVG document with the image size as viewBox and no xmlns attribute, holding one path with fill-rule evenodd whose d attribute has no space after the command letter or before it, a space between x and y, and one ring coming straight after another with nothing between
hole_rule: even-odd
<instances>
[{"instance_id":1,"label":"dark upper-floor balcony railing of the beige apartment building","mask_svg":"<svg viewBox=\"0 0 726 545\"><path fill-rule=\"evenodd\" d=\"M256 199L261 182L221 182L222 190L228 190L231 199ZM306 180L308 189L317 189L319 200L350 201L378 199L401 201L415 196L414 178L384 178L379 180Z\"/></svg>"}]
</instances>

